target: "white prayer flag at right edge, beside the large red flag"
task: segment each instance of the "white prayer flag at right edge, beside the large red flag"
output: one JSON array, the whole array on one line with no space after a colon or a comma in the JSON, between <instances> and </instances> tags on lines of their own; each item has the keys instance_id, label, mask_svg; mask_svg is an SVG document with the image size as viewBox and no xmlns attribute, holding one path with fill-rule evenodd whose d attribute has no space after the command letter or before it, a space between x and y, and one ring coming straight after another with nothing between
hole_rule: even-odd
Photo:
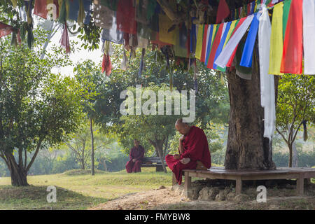
<instances>
[{"instance_id":1,"label":"white prayer flag at right edge, beside the large red flag","mask_svg":"<svg viewBox=\"0 0 315 224\"><path fill-rule=\"evenodd\" d=\"M304 73L315 74L315 1L303 0Z\"/></svg>"}]
</instances>

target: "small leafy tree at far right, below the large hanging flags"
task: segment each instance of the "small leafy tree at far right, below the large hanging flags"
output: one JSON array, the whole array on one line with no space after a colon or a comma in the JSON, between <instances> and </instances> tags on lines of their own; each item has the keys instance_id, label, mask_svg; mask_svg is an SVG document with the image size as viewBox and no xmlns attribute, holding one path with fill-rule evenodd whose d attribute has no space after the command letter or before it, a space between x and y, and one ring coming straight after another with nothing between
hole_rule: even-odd
<instances>
[{"instance_id":1,"label":"small leafy tree at far right, below the large hanging flags","mask_svg":"<svg viewBox=\"0 0 315 224\"><path fill-rule=\"evenodd\" d=\"M303 123L314 124L314 86L314 76L286 75L279 80L276 132L288 146L288 167L293 166L295 139L297 133L302 130ZM296 148L294 154L296 155Z\"/></svg>"}]
</instances>

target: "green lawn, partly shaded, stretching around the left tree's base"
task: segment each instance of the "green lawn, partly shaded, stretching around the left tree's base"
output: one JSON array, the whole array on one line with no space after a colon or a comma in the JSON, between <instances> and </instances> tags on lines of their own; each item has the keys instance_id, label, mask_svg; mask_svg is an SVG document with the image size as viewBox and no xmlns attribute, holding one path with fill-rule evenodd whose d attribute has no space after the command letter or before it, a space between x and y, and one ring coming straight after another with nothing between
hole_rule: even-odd
<instances>
[{"instance_id":1,"label":"green lawn, partly shaded, stretching around the left tree's base","mask_svg":"<svg viewBox=\"0 0 315 224\"><path fill-rule=\"evenodd\" d=\"M10 177L0 179L0 209L87 209L127 193L172 186L172 172L155 172L155 168L142 168L137 174L123 170L95 176L66 172L28 176L27 180L30 186L13 187ZM56 203L47 202L47 186L56 186Z\"/></svg>"}]
</instances>

